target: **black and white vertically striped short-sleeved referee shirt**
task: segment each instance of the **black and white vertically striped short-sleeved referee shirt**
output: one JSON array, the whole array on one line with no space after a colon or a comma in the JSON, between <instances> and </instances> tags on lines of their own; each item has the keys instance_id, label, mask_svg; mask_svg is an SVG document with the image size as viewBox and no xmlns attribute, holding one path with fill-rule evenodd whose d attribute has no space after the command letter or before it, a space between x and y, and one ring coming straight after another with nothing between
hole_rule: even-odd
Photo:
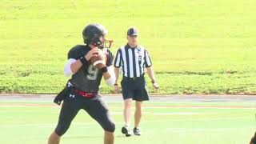
<instances>
[{"instance_id":1,"label":"black and white vertically striped short-sleeved referee shirt","mask_svg":"<svg viewBox=\"0 0 256 144\"><path fill-rule=\"evenodd\" d=\"M114 66L122 66L122 75L129 78L141 77L145 74L145 67L152 66L150 55L143 46L131 48L128 44L118 49L114 59Z\"/></svg>"}]
</instances>

